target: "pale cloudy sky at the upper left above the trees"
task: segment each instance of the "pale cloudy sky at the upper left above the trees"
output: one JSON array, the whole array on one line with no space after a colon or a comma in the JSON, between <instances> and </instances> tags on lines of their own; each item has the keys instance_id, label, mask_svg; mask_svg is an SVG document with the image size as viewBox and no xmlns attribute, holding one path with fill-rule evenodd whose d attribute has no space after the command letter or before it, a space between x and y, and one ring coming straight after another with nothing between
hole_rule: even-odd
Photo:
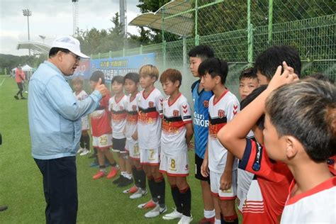
<instances>
[{"instance_id":1,"label":"pale cloudy sky at the upper left above the trees","mask_svg":"<svg viewBox=\"0 0 336 224\"><path fill-rule=\"evenodd\" d=\"M127 0L127 21L140 11L138 0ZM30 41L43 43L39 35L46 36L45 44L62 35L72 35L71 0L0 0L0 53L28 55L28 50L16 50L20 41L28 40L27 17L22 9L30 9ZM79 0L79 29L93 27L101 30L112 27L110 19L119 11L119 0ZM129 33L138 33L135 26L128 26Z\"/></svg>"}]
</instances>

